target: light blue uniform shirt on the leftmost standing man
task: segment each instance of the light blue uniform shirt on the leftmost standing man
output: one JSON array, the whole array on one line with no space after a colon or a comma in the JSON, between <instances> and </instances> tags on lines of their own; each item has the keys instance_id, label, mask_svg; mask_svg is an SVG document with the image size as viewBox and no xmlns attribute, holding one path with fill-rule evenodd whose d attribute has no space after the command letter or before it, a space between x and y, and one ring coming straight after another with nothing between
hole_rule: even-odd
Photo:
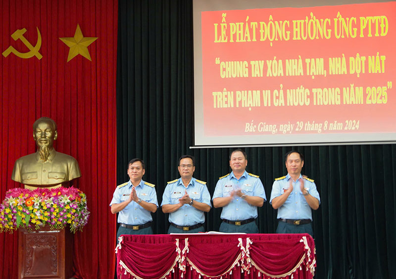
<instances>
[{"instance_id":1,"label":"light blue uniform shirt on the leftmost standing man","mask_svg":"<svg viewBox=\"0 0 396 279\"><path fill-rule=\"evenodd\" d=\"M117 186L113 194L113 199L111 199L110 206L112 204L121 203L129 199L132 186L133 185L131 181ZM158 207L157 193L155 192L153 184L141 180L135 189L136 194L140 199L154 203ZM151 212L133 200L127 206L125 206L124 209L118 212L118 223L127 225L143 225L151 221Z\"/></svg>"}]
</instances>

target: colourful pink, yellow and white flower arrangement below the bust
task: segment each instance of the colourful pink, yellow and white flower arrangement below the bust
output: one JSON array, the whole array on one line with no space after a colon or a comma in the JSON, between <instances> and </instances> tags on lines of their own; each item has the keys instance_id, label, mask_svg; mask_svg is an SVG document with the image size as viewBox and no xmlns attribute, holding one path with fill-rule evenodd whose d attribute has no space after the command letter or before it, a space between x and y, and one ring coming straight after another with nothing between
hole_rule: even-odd
<instances>
[{"instance_id":1,"label":"colourful pink, yellow and white flower arrangement below the bust","mask_svg":"<svg viewBox=\"0 0 396 279\"><path fill-rule=\"evenodd\" d=\"M77 188L14 188L5 193L0 205L0 232L46 225L58 230L70 225L75 233L82 231L89 215L87 198Z\"/></svg>"}]
</instances>

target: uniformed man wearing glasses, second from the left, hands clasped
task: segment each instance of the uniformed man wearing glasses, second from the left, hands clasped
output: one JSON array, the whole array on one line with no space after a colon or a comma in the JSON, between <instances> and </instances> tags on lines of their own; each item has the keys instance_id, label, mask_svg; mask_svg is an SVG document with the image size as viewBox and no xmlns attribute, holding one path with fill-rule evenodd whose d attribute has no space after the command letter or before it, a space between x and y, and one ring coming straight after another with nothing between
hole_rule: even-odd
<instances>
[{"instance_id":1,"label":"uniformed man wearing glasses, second from the left, hands clasped","mask_svg":"<svg viewBox=\"0 0 396 279\"><path fill-rule=\"evenodd\" d=\"M162 211L169 213L170 233L204 232L205 215L211 208L206 182L193 177L195 159L183 155L179 159L180 178L168 182L162 196Z\"/></svg>"}]
</instances>

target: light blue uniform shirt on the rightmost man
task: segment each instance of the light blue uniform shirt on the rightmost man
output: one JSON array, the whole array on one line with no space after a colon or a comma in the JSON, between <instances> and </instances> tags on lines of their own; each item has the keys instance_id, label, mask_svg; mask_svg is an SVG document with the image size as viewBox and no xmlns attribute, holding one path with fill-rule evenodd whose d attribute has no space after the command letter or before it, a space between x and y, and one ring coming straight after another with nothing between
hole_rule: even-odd
<instances>
[{"instance_id":1,"label":"light blue uniform shirt on the rightmost man","mask_svg":"<svg viewBox=\"0 0 396 279\"><path fill-rule=\"evenodd\" d=\"M290 193L289 197L286 199L285 203L282 204L278 208L278 219L292 219L292 220L301 220L301 219L310 219L312 220L312 210L309 207L304 195L302 195L300 188L299 179L303 178L300 174L297 181L293 181L289 174L286 176L277 178L272 185L271 191L271 199L269 201L272 204L272 200L276 197L281 196L283 193L287 191L290 187L290 181L293 184L293 192ZM304 179L304 188L309 192L309 195L319 200L319 193L316 189L316 185L312 179Z\"/></svg>"}]
</instances>

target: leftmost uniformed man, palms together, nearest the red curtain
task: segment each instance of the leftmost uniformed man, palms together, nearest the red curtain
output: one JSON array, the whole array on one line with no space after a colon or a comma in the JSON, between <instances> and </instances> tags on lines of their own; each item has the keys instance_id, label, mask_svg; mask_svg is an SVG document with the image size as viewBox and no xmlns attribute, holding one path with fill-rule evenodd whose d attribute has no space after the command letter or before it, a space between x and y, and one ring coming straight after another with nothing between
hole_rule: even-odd
<instances>
[{"instance_id":1,"label":"leftmost uniformed man, palms together, nearest the red curtain","mask_svg":"<svg viewBox=\"0 0 396 279\"><path fill-rule=\"evenodd\" d=\"M128 163L130 180L118 185L110 202L111 213L118 212L117 239L121 235L152 235L151 212L158 207L157 193L153 184L142 180L145 174L142 159L132 159Z\"/></svg>"}]
</instances>

